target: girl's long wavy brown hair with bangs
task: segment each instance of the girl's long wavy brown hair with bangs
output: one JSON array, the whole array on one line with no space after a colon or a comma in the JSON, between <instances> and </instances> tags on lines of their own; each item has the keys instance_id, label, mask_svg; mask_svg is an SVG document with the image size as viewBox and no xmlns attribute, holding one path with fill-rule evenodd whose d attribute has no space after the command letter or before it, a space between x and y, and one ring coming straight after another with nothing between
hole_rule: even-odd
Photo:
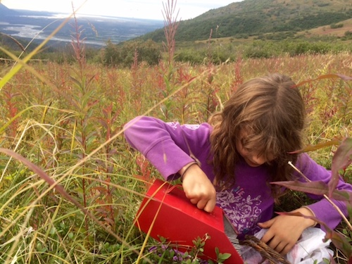
<instances>
[{"instance_id":1,"label":"girl's long wavy brown hair with bangs","mask_svg":"<svg viewBox=\"0 0 352 264\"><path fill-rule=\"evenodd\" d=\"M275 157L268 163L270 181L289 180L291 167L287 163L295 163L298 157L289 152L302 148L304 120L304 103L291 78L272 74L242 84L225 103L223 111L209 120L213 125L210 144L215 186L225 189L236 182L234 171L239 161L236 140L241 140L246 149ZM247 132L245 139L239 139L241 130ZM280 194L279 187L272 187L275 199Z\"/></svg>"}]
</instances>

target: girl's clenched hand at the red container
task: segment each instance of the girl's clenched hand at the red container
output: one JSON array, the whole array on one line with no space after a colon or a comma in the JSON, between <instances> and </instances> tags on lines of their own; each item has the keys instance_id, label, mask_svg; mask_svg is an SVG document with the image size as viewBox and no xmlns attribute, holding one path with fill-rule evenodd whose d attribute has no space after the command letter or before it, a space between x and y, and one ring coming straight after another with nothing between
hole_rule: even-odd
<instances>
[{"instance_id":1,"label":"girl's clenched hand at the red container","mask_svg":"<svg viewBox=\"0 0 352 264\"><path fill-rule=\"evenodd\" d=\"M199 209L203 209L210 213L215 208L216 191L213 184L210 182L206 174L199 168L199 165L194 163L187 168L185 165L180 174L182 177L182 187L187 198L191 203L196 204ZM182 173L185 168L186 172Z\"/></svg>"}]
</instances>

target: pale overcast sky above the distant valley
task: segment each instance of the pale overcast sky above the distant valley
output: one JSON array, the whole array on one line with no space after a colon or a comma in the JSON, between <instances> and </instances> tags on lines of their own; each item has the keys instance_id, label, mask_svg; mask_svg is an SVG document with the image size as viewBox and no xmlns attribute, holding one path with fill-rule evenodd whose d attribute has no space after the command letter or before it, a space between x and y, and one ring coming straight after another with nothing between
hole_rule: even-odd
<instances>
[{"instance_id":1,"label":"pale overcast sky above the distant valley","mask_svg":"<svg viewBox=\"0 0 352 264\"><path fill-rule=\"evenodd\" d=\"M170 0L171 3L172 0ZM173 0L175 3L175 0ZM178 20L195 18L213 8L227 6L240 0L177 0ZM11 9L71 13L72 4L77 8L84 0L0 0ZM86 0L78 13L108 15L124 18L163 20L163 3L168 0Z\"/></svg>"}]
</instances>

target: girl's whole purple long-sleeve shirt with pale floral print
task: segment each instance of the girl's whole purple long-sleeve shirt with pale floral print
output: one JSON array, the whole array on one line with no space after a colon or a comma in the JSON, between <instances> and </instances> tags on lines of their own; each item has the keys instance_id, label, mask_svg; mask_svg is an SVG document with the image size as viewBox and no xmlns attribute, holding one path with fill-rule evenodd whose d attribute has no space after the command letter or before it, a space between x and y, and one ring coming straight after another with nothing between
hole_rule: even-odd
<instances>
[{"instance_id":1,"label":"girl's whole purple long-sleeve shirt with pale floral print","mask_svg":"<svg viewBox=\"0 0 352 264\"><path fill-rule=\"evenodd\" d=\"M179 177L177 172L194 161L190 156L192 153L200 161L203 172L213 181L213 165L208 162L211 158L211 131L212 127L208 123L180 125L178 122L163 122L156 118L139 116L125 125L125 138L156 167L165 180ZM296 167L311 181L327 183L331 178L331 172L315 163L306 153L298 157ZM234 188L218 191L217 205L224 210L241 234L253 234L260 230L258 222L270 220L273 215L274 199L268 185L269 175L265 164L251 167L244 160L236 165L234 175ZM295 176L300 177L298 174ZM340 179L337 189L352 191L352 186ZM315 217L334 229L341 221L341 215L321 196L308 196L318 200L308 206ZM334 203L347 215L344 202Z\"/></svg>"}]
</instances>

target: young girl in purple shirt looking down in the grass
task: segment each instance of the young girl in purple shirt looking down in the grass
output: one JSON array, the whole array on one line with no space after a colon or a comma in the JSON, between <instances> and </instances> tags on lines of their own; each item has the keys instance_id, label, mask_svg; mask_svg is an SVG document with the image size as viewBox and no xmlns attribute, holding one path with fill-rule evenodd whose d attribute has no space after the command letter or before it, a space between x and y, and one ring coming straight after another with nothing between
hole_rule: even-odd
<instances>
[{"instance_id":1,"label":"young girl in purple shirt looking down in the grass","mask_svg":"<svg viewBox=\"0 0 352 264\"><path fill-rule=\"evenodd\" d=\"M282 187L270 182L300 180L329 182L331 172L302 149L305 109L295 83L273 74L242 84L208 123L180 125L139 116L125 125L125 138L161 172L165 180L182 177L187 198L211 212L220 206L241 234L268 231L262 238L285 254L315 221L289 215L273 218ZM352 191L339 181L337 189ZM293 212L315 216L334 229L341 215L322 197ZM334 201L347 215L346 205Z\"/></svg>"}]
</instances>

